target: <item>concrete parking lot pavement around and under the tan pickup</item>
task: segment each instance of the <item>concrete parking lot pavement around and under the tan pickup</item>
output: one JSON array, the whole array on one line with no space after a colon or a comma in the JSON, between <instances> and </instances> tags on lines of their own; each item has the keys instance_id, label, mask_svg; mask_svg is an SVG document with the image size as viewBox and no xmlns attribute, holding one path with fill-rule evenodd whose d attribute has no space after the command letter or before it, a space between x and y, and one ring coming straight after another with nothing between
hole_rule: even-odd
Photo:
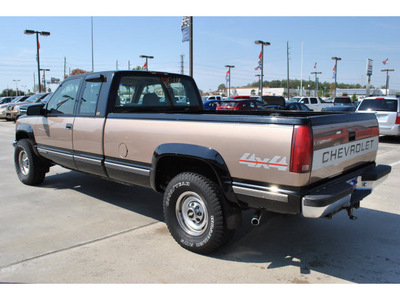
<instances>
[{"instance_id":1,"label":"concrete parking lot pavement around and under the tan pickup","mask_svg":"<svg viewBox=\"0 0 400 300\"><path fill-rule=\"evenodd\" d=\"M357 220L252 211L221 250L181 248L162 195L61 167L37 187L18 180L15 125L0 120L2 283L400 283L400 139L380 139L389 178L361 202Z\"/></svg>"}]
</instances>

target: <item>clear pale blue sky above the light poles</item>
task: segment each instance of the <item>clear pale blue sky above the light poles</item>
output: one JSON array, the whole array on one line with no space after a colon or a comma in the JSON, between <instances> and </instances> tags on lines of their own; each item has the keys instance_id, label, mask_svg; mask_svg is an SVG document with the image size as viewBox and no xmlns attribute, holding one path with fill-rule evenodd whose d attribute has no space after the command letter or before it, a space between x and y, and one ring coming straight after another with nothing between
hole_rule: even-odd
<instances>
[{"instance_id":1,"label":"clear pale blue sky above the light poles","mask_svg":"<svg viewBox=\"0 0 400 300\"><path fill-rule=\"evenodd\" d=\"M292 6L287 10L280 4L252 0L229 9L224 1L173 0L167 7L166 2L155 1L151 7L116 0L109 9L84 6L78 11L79 1L71 0L62 13L57 9L37 11L33 4L26 3L20 7L11 4L0 15L0 91L15 89L16 85L32 90L34 76L37 81L36 38L25 35L25 29L51 33L39 36L40 66L50 69L47 79L63 78L64 59L67 74L75 68L90 71L91 16L95 71L115 70L117 65L119 70L126 70L129 62L131 67L143 66L144 59L139 56L151 55L154 59L149 60L149 70L180 73L183 54L184 72L189 74L189 43L182 42L180 28L184 15L194 16L193 77L204 92L225 84L225 65L235 66L231 70L233 87L258 80L260 71L255 68L261 46L254 44L255 40L271 43L264 47L264 80L287 78L288 43L290 79L314 80L311 72L317 71L322 72L320 82L333 82L335 62L331 58L336 56L342 59L337 67L338 82L365 85L366 61L370 58L371 84L385 85L386 73L381 70L394 69L389 73L389 86L400 90L400 16L385 15L386 10L362 2L348 5L339 0L338 5L346 10L336 9L329 15L326 8L313 6L318 3L314 1L302 3L316 9L299 9L297 2L289 1ZM54 7L54 2L48 3ZM178 6L182 3L197 6L185 10ZM255 9L257 4L259 9ZM386 59L389 63L384 65Z\"/></svg>"}]
</instances>

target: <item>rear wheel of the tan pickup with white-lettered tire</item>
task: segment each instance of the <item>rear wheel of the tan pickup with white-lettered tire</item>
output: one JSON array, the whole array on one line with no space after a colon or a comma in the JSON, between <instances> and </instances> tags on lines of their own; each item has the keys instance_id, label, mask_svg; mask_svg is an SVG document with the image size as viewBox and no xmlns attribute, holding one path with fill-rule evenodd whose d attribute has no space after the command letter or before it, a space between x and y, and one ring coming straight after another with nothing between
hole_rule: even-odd
<instances>
[{"instance_id":1,"label":"rear wheel of the tan pickup with white-lettered tire","mask_svg":"<svg viewBox=\"0 0 400 300\"><path fill-rule=\"evenodd\" d=\"M223 195L207 177L181 173L164 194L163 210L168 229L183 248L208 254L222 247L233 235L224 217Z\"/></svg>"}]
</instances>

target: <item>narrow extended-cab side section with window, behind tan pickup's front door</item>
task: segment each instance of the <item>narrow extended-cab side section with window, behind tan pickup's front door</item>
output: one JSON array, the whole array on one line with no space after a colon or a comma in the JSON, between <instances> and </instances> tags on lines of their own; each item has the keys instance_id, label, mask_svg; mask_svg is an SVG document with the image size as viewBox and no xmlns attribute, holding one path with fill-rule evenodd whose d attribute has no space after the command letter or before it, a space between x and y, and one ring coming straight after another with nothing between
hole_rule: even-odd
<instances>
[{"instance_id":1,"label":"narrow extended-cab side section with window, behind tan pickup's front door","mask_svg":"<svg viewBox=\"0 0 400 300\"><path fill-rule=\"evenodd\" d=\"M77 102L73 127L73 150L76 168L82 172L105 176L103 129L105 116L98 112L98 101L105 77L88 76Z\"/></svg>"}]
</instances>

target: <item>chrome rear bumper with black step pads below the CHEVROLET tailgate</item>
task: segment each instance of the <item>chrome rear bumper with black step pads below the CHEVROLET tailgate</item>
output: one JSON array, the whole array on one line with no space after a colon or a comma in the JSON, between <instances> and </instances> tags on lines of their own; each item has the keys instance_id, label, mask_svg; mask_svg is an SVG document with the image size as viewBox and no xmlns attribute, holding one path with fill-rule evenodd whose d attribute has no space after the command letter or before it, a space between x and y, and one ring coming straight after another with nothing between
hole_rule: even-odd
<instances>
[{"instance_id":1,"label":"chrome rear bumper with black step pads below the CHEVROLET tailgate","mask_svg":"<svg viewBox=\"0 0 400 300\"><path fill-rule=\"evenodd\" d=\"M373 187L387 178L390 171L390 166L373 166L354 178L356 185L342 181L318 187L302 198L302 213L307 218L320 218L355 207L372 192Z\"/></svg>"}]
</instances>

